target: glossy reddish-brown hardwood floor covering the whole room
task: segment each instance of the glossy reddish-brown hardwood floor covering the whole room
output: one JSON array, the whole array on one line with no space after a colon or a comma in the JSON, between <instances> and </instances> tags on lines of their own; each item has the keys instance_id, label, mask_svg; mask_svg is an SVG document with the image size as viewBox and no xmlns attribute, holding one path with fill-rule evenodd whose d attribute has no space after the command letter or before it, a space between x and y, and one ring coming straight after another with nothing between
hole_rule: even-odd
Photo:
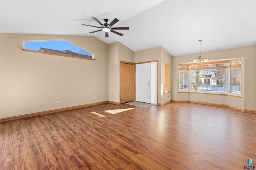
<instances>
[{"instance_id":1,"label":"glossy reddish-brown hardwood floor covering the whole room","mask_svg":"<svg viewBox=\"0 0 256 170\"><path fill-rule=\"evenodd\" d=\"M224 107L102 104L2 122L0 133L3 170L234 170L248 158L256 165L256 115Z\"/></svg>"}]
</instances>

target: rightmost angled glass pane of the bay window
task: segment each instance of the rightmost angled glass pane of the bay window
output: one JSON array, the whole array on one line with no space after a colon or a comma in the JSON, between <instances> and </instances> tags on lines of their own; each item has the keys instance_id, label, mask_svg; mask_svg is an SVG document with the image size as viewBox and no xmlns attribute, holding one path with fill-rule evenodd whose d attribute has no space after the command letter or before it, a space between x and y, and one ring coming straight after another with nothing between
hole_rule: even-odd
<instances>
[{"instance_id":1,"label":"rightmost angled glass pane of the bay window","mask_svg":"<svg viewBox=\"0 0 256 170\"><path fill-rule=\"evenodd\" d=\"M230 69L230 93L241 95L241 68Z\"/></svg>"}]
</instances>

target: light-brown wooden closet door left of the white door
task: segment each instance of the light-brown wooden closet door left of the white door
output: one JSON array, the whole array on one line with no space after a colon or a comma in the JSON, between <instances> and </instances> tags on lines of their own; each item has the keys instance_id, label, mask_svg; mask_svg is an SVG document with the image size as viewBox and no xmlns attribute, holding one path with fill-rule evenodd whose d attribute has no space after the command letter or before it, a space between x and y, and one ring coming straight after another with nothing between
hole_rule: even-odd
<instances>
[{"instance_id":1,"label":"light-brown wooden closet door left of the white door","mask_svg":"<svg viewBox=\"0 0 256 170\"><path fill-rule=\"evenodd\" d=\"M134 101L134 64L120 63L120 103Z\"/></svg>"}]
</instances>

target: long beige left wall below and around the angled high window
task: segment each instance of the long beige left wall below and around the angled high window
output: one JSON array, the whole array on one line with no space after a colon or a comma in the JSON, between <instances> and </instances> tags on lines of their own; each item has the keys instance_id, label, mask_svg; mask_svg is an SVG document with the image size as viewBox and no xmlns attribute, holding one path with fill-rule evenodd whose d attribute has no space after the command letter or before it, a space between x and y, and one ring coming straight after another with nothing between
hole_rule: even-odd
<instances>
[{"instance_id":1,"label":"long beige left wall below and around the angled high window","mask_svg":"<svg viewBox=\"0 0 256 170\"><path fill-rule=\"evenodd\" d=\"M66 39L95 60L21 50L23 41L52 39ZM96 37L1 33L0 48L0 118L108 101L108 44Z\"/></svg>"}]
</instances>

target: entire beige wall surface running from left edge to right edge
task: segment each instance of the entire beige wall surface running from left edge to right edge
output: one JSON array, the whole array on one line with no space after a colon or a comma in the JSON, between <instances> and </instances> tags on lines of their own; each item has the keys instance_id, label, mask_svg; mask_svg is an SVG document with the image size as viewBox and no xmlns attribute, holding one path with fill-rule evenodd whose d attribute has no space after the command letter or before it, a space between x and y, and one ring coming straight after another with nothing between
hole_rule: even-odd
<instances>
[{"instance_id":1,"label":"entire beige wall surface running from left edge to right edge","mask_svg":"<svg viewBox=\"0 0 256 170\"><path fill-rule=\"evenodd\" d=\"M23 41L66 39L92 53L95 61L22 51ZM0 118L103 101L120 102L120 61L158 60L158 103L185 100L256 110L256 45L205 52L210 60L242 57L242 98L178 93L178 65L198 54L171 57L162 47L133 52L91 36L0 33ZM164 63L170 63L171 93L161 94ZM114 95L114 97L112 97ZM71 99L71 102L69 102ZM60 100L60 104L57 104Z\"/></svg>"}]
</instances>

